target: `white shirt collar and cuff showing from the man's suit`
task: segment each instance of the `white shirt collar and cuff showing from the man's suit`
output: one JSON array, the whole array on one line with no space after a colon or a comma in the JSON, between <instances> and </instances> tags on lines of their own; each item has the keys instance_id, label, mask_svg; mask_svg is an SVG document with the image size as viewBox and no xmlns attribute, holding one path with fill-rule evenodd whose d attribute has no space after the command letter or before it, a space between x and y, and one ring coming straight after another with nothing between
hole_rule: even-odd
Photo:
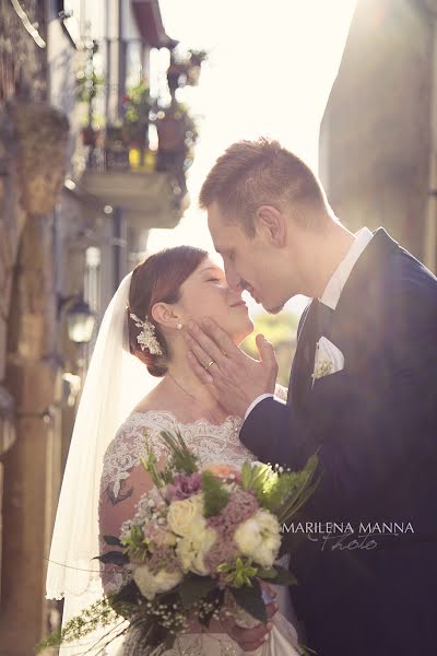
<instances>
[{"instance_id":1,"label":"white shirt collar and cuff showing from the man's suit","mask_svg":"<svg viewBox=\"0 0 437 656\"><path fill-rule=\"evenodd\" d=\"M328 307L330 307L331 309L335 309L335 307L339 303L341 293L343 291L343 288L346 284L349 277L351 276L352 269L354 268L355 263L357 262L359 256L363 254L365 248L370 243L370 239L373 236L374 236L374 234L368 230L368 227L363 227L354 235L354 242L353 242L351 248L347 250L345 257L342 259L340 265L336 267L336 269L333 272L327 286L324 288L324 291L319 298L320 303L328 305ZM274 395L273 394L261 394L259 397L257 397L255 399L255 401L252 403L250 403L249 408L246 410L245 420L249 417L249 414L253 410L255 406L257 406L260 401L262 401L269 397L274 397ZM281 399L279 399L277 397L274 397L274 398L280 403L284 402Z\"/></svg>"}]
</instances>

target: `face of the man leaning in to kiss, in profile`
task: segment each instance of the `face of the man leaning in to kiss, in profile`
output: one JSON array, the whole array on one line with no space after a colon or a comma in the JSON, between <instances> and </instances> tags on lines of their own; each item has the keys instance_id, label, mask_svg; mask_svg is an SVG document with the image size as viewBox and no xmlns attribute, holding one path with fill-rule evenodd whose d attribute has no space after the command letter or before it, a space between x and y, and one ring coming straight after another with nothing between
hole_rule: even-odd
<instances>
[{"instance_id":1,"label":"face of the man leaning in to kiss, in profile","mask_svg":"<svg viewBox=\"0 0 437 656\"><path fill-rule=\"evenodd\" d=\"M229 288L247 290L267 312L280 312L288 298L282 297L274 280L274 248L257 235L248 236L243 224L226 221L216 202L208 208L208 225L215 250L223 257Z\"/></svg>"}]
</instances>

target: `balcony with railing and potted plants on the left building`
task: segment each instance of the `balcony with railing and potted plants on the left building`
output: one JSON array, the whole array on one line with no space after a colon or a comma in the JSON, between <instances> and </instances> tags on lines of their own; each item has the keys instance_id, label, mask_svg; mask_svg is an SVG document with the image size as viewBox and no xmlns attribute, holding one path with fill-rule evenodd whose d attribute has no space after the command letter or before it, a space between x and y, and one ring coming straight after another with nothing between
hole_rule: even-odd
<instances>
[{"instance_id":1,"label":"balcony with railing and potted plants on the left building","mask_svg":"<svg viewBox=\"0 0 437 656\"><path fill-rule=\"evenodd\" d=\"M188 204L186 172L193 160L196 124L174 97L164 108L152 103L144 82L122 103L116 124L82 130L86 171L81 186L104 206L120 209L134 229L175 227Z\"/></svg>"}]
</instances>

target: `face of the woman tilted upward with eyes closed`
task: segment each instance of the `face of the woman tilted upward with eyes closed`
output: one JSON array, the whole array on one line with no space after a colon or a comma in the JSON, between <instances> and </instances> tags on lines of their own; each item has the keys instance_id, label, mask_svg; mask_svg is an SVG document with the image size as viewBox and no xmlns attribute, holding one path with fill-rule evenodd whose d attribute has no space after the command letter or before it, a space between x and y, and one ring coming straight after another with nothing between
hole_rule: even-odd
<instances>
[{"instance_id":1,"label":"face of the woman tilted upward with eyes closed","mask_svg":"<svg viewBox=\"0 0 437 656\"><path fill-rule=\"evenodd\" d=\"M177 306L182 324L211 317L237 344L253 330L241 294L229 289L224 270L211 257L206 257L187 278L180 293Z\"/></svg>"}]
</instances>

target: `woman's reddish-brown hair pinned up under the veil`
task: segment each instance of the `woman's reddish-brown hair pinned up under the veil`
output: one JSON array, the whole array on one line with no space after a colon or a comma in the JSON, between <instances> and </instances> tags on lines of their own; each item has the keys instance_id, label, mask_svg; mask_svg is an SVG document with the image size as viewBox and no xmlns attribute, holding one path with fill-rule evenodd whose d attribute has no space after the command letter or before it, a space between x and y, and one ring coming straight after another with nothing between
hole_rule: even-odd
<instances>
[{"instance_id":1,"label":"woman's reddish-brown hair pinned up under the veil","mask_svg":"<svg viewBox=\"0 0 437 656\"><path fill-rule=\"evenodd\" d=\"M180 300L180 288L208 256L206 250L193 246L176 246L151 255L138 265L132 272L129 291L128 326L129 350L143 362L152 376L164 376L167 372L168 344L160 325L152 317L155 303L177 303ZM142 321L147 317L155 328L155 337L160 342L163 355L153 355L149 349L141 349L138 336L142 328L135 326L130 314Z\"/></svg>"}]
</instances>

